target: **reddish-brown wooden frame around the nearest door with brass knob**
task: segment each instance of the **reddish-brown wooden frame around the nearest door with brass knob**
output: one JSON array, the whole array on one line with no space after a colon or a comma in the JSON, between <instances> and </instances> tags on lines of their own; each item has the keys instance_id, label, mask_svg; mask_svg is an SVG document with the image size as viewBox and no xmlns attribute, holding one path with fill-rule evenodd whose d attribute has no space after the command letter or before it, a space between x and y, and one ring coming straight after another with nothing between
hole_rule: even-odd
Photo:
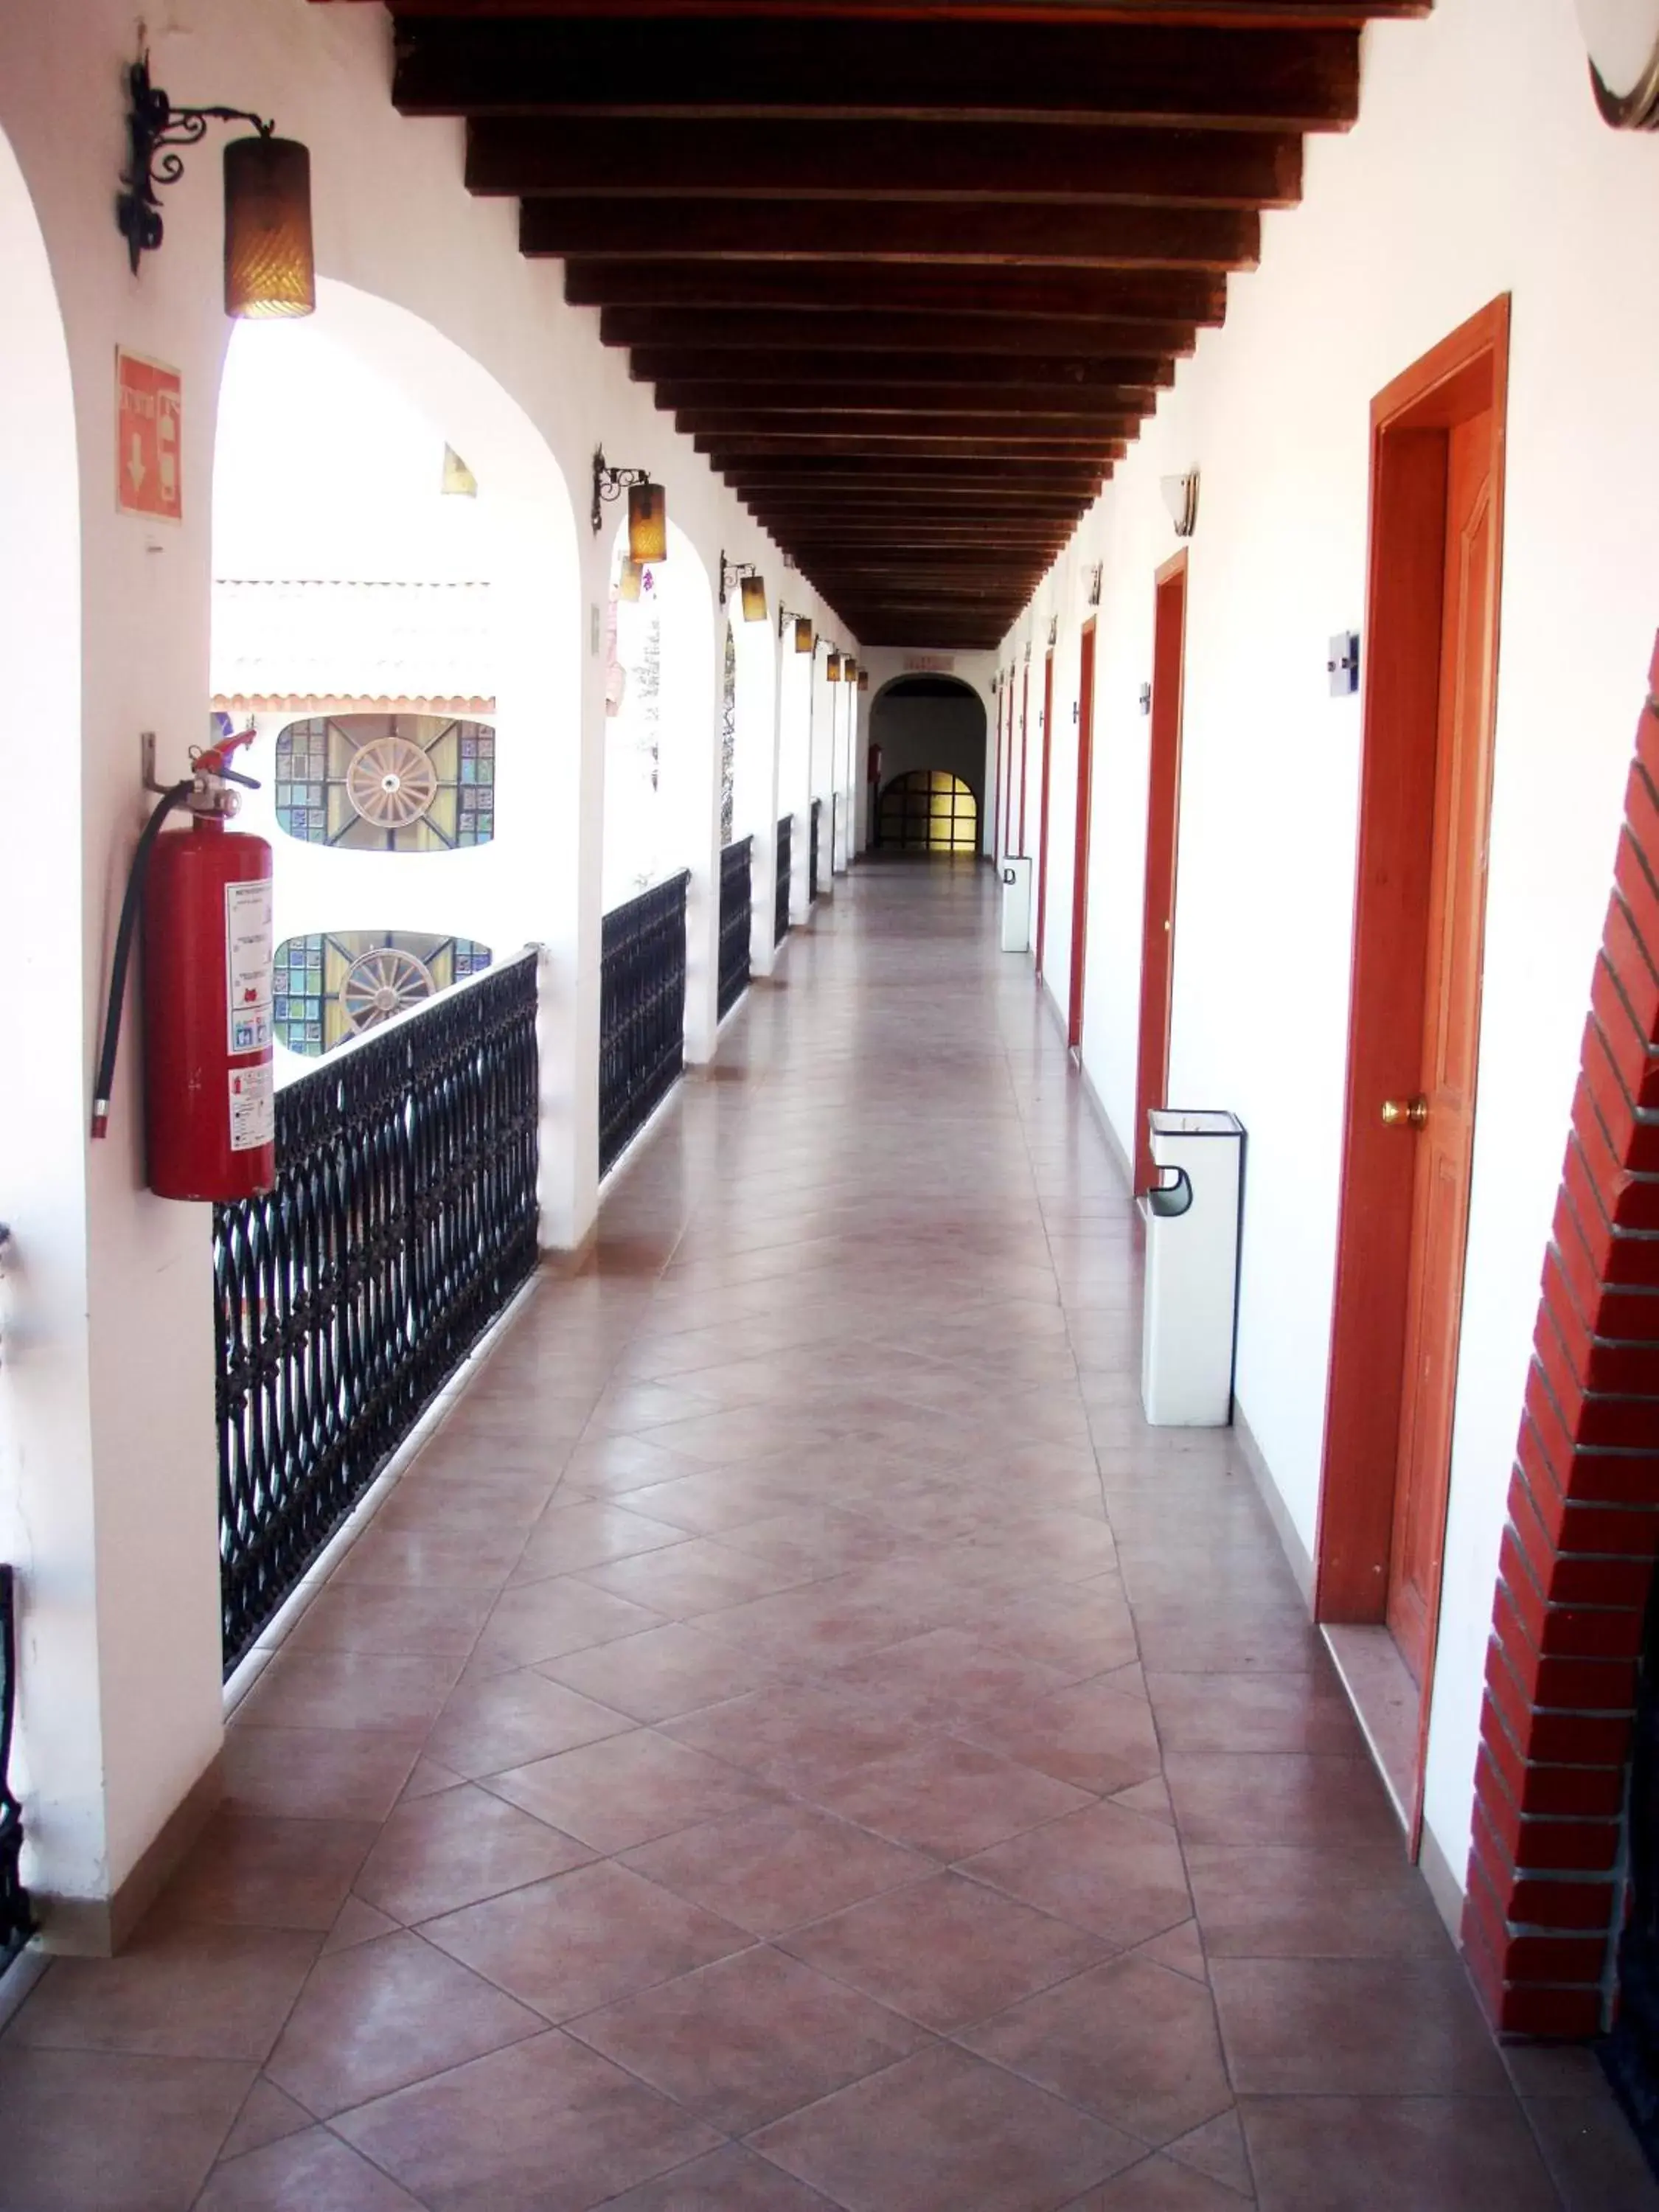
<instances>
[{"instance_id":1,"label":"reddish-brown wooden frame around the nearest door with brass knob","mask_svg":"<svg viewBox=\"0 0 1659 2212\"><path fill-rule=\"evenodd\" d=\"M1371 400L1354 971L1325 1455L1314 1535L1318 1621L1387 1619L1416 1155L1383 1126L1378 1102L1402 1088L1416 1088L1422 1055L1444 615L1447 434L1455 422L1486 409L1493 418L1495 568L1489 712L1480 748L1491 803L1504 573L1506 392L1509 294L1453 330ZM1482 885L1480 916L1462 947L1475 971L1482 964L1484 918ZM1475 1006L1480 1006L1478 991ZM1458 1316L1462 1316L1462 1290ZM1451 1371L1455 1394L1455 1356ZM1418 1710L1409 1818L1413 1851L1422 1825L1422 1767L1442 1575L1444 1531L1436 1557Z\"/></svg>"}]
</instances>

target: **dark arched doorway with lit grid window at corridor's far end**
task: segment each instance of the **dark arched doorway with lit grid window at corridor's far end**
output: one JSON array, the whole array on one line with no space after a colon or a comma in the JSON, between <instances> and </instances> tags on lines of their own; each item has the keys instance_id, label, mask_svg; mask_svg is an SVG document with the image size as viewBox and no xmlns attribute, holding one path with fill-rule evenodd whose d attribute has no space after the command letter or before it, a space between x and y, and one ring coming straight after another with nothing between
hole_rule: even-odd
<instances>
[{"instance_id":1,"label":"dark arched doorway with lit grid window at corridor's far end","mask_svg":"<svg viewBox=\"0 0 1659 2212\"><path fill-rule=\"evenodd\" d=\"M880 852L980 849L987 719L969 684L938 675L896 677L872 699L869 743L880 757L872 845ZM922 832L922 823L936 827ZM967 841L964 830L971 832Z\"/></svg>"}]
</instances>

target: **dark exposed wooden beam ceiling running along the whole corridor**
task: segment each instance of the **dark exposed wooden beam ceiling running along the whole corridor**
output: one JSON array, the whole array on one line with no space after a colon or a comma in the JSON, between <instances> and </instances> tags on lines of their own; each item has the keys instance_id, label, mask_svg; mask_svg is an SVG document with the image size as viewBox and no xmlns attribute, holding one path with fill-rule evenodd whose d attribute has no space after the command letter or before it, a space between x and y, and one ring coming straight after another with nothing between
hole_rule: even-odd
<instances>
[{"instance_id":1,"label":"dark exposed wooden beam ceiling running along the whole corridor","mask_svg":"<svg viewBox=\"0 0 1659 2212\"><path fill-rule=\"evenodd\" d=\"M1354 122L1363 24L1429 0L389 7L396 104L465 119L471 190L841 619L967 650Z\"/></svg>"}]
</instances>

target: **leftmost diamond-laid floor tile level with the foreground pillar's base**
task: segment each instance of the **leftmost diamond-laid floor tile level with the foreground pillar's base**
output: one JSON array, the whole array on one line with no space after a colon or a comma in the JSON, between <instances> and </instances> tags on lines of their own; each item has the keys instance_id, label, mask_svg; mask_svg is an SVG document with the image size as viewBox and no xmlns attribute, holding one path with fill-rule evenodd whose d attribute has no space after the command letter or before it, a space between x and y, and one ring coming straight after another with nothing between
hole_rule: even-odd
<instances>
[{"instance_id":1,"label":"leftmost diamond-laid floor tile level with the foreground pillar's base","mask_svg":"<svg viewBox=\"0 0 1659 2212\"><path fill-rule=\"evenodd\" d=\"M400 1805L358 1867L354 1889L394 1920L431 1920L591 1858L586 1845L467 1783Z\"/></svg>"}]
</instances>

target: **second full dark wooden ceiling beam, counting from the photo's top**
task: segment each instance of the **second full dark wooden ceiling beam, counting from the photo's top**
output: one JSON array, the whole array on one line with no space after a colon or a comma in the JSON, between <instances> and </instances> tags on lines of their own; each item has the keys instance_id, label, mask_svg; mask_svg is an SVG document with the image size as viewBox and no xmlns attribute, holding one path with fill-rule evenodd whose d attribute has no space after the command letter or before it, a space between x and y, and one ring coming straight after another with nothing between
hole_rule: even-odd
<instances>
[{"instance_id":1,"label":"second full dark wooden ceiling beam, counting from the photo's top","mask_svg":"<svg viewBox=\"0 0 1659 2212\"><path fill-rule=\"evenodd\" d=\"M1283 131L1029 131L657 115L617 142L606 117L476 115L467 188L535 199L936 199L1099 206L1292 208L1303 142Z\"/></svg>"}]
</instances>

